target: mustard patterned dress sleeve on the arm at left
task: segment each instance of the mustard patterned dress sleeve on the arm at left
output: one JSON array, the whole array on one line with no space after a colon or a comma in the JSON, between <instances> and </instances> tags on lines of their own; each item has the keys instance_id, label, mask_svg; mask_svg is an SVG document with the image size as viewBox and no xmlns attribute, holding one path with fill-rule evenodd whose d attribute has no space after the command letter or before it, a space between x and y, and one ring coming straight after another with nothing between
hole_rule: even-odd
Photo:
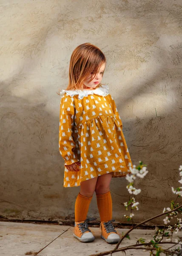
<instances>
[{"instance_id":1,"label":"mustard patterned dress sleeve on the arm at left","mask_svg":"<svg viewBox=\"0 0 182 256\"><path fill-rule=\"evenodd\" d=\"M63 95L60 102L59 150L65 166L79 160L74 154L76 143L73 140L74 105L71 98Z\"/></svg>"}]
</instances>

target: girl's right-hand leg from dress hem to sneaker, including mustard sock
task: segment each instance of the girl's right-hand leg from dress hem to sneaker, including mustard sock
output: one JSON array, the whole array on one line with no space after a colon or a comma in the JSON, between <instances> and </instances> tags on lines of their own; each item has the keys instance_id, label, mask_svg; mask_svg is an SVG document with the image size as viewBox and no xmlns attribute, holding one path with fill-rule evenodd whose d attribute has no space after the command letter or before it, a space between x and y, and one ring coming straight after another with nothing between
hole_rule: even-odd
<instances>
[{"instance_id":1,"label":"girl's right-hand leg from dress hem to sneaker, including mustard sock","mask_svg":"<svg viewBox=\"0 0 182 256\"><path fill-rule=\"evenodd\" d=\"M110 183L112 172L100 175L97 179L95 192L97 196L97 206L100 213L100 221L110 221L112 219L112 198L110 193Z\"/></svg>"}]
</instances>

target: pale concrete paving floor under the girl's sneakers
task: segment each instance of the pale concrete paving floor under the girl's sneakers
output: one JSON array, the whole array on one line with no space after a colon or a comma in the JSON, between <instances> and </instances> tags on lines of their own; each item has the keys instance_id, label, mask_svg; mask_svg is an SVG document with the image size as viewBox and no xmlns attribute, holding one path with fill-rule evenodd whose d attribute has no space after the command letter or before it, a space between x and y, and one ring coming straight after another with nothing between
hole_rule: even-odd
<instances>
[{"instance_id":1,"label":"pale concrete paving floor under the girl's sneakers","mask_svg":"<svg viewBox=\"0 0 182 256\"><path fill-rule=\"evenodd\" d=\"M108 244L100 238L100 229L90 227L96 237L93 242L82 243L73 237L74 227L54 224L30 224L0 221L0 256L89 256L111 250L116 244ZM117 229L119 234L128 229ZM131 240L125 239L119 247L135 244L137 239L152 239L154 230L133 230ZM178 235L182 235L179 232ZM175 238L175 236L174 236ZM170 247L168 244L167 247ZM166 247L166 248L167 248ZM39 252L39 253L38 253ZM38 254L36 254L38 253ZM123 253L113 253L121 256ZM143 250L128 250L126 256L149 256Z\"/></svg>"}]
</instances>

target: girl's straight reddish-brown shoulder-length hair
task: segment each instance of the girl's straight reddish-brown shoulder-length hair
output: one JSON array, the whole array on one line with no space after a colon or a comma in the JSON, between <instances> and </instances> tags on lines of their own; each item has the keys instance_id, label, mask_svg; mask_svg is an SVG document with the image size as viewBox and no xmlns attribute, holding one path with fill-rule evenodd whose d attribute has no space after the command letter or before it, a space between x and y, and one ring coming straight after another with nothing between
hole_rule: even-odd
<instances>
[{"instance_id":1,"label":"girl's straight reddish-brown shoulder-length hair","mask_svg":"<svg viewBox=\"0 0 182 256\"><path fill-rule=\"evenodd\" d=\"M71 54L69 64L69 84L66 90L83 90L83 81L92 72L94 78L100 70L102 64L106 64L103 52L91 43L80 44ZM103 72L104 73L104 72ZM103 74L102 74L103 76ZM92 81L94 78L88 81ZM100 84L97 84L98 88ZM60 93L57 93L60 95Z\"/></svg>"}]
</instances>

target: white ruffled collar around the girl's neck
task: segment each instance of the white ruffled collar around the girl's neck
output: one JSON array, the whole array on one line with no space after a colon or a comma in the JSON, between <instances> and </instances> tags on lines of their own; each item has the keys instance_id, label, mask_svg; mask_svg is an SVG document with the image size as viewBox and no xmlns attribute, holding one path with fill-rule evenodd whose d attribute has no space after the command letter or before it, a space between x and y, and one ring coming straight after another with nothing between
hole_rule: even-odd
<instances>
[{"instance_id":1,"label":"white ruffled collar around the girl's neck","mask_svg":"<svg viewBox=\"0 0 182 256\"><path fill-rule=\"evenodd\" d=\"M109 87L107 84L105 84L95 90L61 90L60 96L63 98L63 95L65 93L71 97L73 97L74 95L78 95L78 99L83 99L83 97L87 97L90 94L107 96L109 94Z\"/></svg>"}]
</instances>

